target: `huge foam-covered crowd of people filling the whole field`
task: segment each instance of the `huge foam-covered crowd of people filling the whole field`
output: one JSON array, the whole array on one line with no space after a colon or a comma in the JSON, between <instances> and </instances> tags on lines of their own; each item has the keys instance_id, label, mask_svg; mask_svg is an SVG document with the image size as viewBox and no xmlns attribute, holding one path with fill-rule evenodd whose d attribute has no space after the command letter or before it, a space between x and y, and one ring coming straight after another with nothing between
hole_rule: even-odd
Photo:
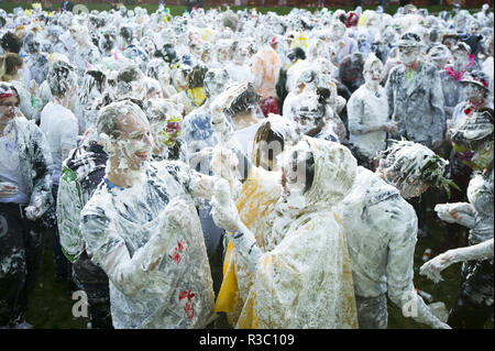
<instances>
[{"instance_id":1,"label":"huge foam-covered crowd of people filling the whole field","mask_svg":"<svg viewBox=\"0 0 495 351\"><path fill-rule=\"evenodd\" d=\"M47 234L91 328L386 329L387 296L483 328L493 25L487 4L0 10L0 328L33 327ZM446 250L415 273L429 210ZM442 318L415 274L457 262Z\"/></svg>"}]
</instances>

